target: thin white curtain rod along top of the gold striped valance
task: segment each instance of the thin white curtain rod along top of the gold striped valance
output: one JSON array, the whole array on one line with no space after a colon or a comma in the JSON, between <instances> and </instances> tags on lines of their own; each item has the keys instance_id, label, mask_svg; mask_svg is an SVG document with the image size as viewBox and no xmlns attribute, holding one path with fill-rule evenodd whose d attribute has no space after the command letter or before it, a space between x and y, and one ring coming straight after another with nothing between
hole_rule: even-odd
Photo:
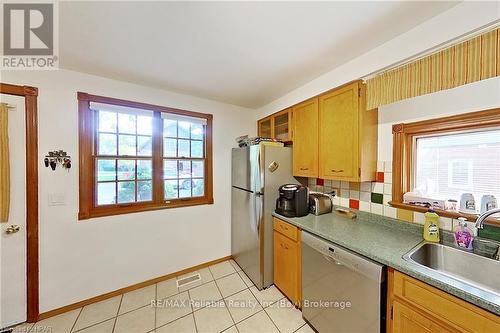
<instances>
[{"instance_id":1,"label":"thin white curtain rod along top of the gold striped valance","mask_svg":"<svg viewBox=\"0 0 500 333\"><path fill-rule=\"evenodd\" d=\"M369 80L377 75L380 75L380 74L383 74L385 72L388 72L390 70L393 70L393 69L396 69L398 67L402 67L404 65L407 65L411 62L414 62L414 61L417 61L417 60L420 60L422 58L425 58L425 57L428 57L432 54L435 54L435 53L438 53L438 52L441 52L442 50L454 45L454 44L459 44L461 42L464 42L466 40L469 40L469 39L472 39L472 38L475 38L479 35L482 35L488 31L491 31L491 30L494 30L494 29L497 29L498 27L500 27L500 20L495 20L489 24L486 24L486 25L483 25L482 27L479 27L477 29L474 29L472 31L469 31L463 35L460 35L456 38L453 38L453 39L450 39L446 42L443 42L441 44L438 44L434 47L431 47L427 50L424 50L422 52L419 52L411 57L408 57L408 58L405 58L401 61L398 61L392 65L389 65L389 66L386 66L382 69L379 69L377 71L374 71L374 72L371 72L370 74L367 74L365 76L363 76L361 79L363 81L366 81L366 80Z\"/></svg>"}]
</instances>

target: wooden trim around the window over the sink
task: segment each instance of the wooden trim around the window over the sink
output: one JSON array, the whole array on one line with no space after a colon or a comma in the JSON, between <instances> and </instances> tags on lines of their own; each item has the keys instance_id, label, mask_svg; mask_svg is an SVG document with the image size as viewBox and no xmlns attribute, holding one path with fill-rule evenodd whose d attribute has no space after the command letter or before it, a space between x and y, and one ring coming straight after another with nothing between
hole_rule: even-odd
<instances>
[{"instance_id":1,"label":"wooden trim around the window over the sink","mask_svg":"<svg viewBox=\"0 0 500 333\"><path fill-rule=\"evenodd\" d=\"M413 142L415 137L429 134L443 134L466 130L480 130L491 127L500 127L500 108L460 115L435 118L413 123L401 123L392 126L392 201L389 204L396 208L426 212L427 208L403 203L403 194L412 188L413 174ZM499 198L500 199L500 198ZM436 209L443 217L465 217L468 221L475 221L477 215L463 214ZM493 218L486 220L488 224L500 226L500 222Z\"/></svg>"}]
</instances>

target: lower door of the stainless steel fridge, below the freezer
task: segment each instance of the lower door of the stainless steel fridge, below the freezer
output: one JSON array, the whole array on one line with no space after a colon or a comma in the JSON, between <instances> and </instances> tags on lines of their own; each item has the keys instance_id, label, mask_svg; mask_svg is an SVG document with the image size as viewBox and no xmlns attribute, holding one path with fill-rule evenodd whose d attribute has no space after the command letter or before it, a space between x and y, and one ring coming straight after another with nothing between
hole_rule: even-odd
<instances>
[{"instance_id":1,"label":"lower door of the stainless steel fridge, below the freezer","mask_svg":"<svg viewBox=\"0 0 500 333\"><path fill-rule=\"evenodd\" d=\"M231 188L231 254L262 289L262 196Z\"/></svg>"}]
</instances>

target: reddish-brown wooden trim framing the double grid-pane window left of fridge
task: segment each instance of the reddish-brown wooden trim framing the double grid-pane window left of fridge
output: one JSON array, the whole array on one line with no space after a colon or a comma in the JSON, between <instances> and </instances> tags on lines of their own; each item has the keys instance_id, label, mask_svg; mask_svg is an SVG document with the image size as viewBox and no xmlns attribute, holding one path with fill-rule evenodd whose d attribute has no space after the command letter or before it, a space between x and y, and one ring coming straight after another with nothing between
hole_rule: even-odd
<instances>
[{"instance_id":1,"label":"reddish-brown wooden trim framing the double grid-pane window left of fridge","mask_svg":"<svg viewBox=\"0 0 500 333\"><path fill-rule=\"evenodd\" d=\"M78 92L78 120L79 120L79 220L94 217L112 216L120 214L138 213L159 209L188 207L196 205L213 204L213 147L212 147L212 121L213 116L208 113L185 111L170 107L133 102L122 99L90 95ZM94 168L94 135L95 124L93 111L90 110L90 102L113 104L118 106L132 107L155 111L154 117L161 113L184 115L206 119L205 137L205 195L202 197L169 199L163 198L163 152L160 121L153 122L153 200L150 202L134 202L128 204L116 204L109 206L97 206L95 204L95 168ZM158 120L158 119L156 119ZM155 171L156 170L156 171ZM162 184L159 186L158 184Z\"/></svg>"}]
</instances>

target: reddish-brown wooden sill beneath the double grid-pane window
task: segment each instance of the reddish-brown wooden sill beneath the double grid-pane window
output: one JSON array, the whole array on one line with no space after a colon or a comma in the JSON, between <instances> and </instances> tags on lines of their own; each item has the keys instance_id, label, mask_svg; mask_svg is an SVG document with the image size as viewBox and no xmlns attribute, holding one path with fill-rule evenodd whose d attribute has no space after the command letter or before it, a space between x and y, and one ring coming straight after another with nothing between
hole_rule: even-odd
<instances>
[{"instance_id":1,"label":"reddish-brown wooden sill beneath the double grid-pane window","mask_svg":"<svg viewBox=\"0 0 500 333\"><path fill-rule=\"evenodd\" d=\"M123 214L133 214L133 213L144 213L148 211L155 211L161 209L170 209L170 208L180 208L180 207L189 207L189 206L199 206L199 205L212 205L214 200L212 198L198 198L198 199L190 199L190 200L171 200L168 204L131 204L128 206L111 206L111 207L94 207L91 208L88 212L79 212L78 220L88 220L96 217L106 217L106 216L114 216L114 215L123 215Z\"/></svg>"}]
</instances>

